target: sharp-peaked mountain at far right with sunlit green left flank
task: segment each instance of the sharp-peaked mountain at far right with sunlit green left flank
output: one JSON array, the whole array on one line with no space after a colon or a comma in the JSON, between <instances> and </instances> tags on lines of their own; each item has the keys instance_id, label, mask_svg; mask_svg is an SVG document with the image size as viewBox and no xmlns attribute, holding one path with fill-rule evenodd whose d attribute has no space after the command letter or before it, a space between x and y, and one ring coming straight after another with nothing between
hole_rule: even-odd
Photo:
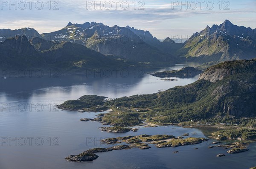
<instances>
[{"instance_id":1,"label":"sharp-peaked mountain at far right with sunlit green left flank","mask_svg":"<svg viewBox=\"0 0 256 169\"><path fill-rule=\"evenodd\" d=\"M256 57L256 29L225 20L193 34L176 54L204 62L251 59Z\"/></svg>"}]
</instances>

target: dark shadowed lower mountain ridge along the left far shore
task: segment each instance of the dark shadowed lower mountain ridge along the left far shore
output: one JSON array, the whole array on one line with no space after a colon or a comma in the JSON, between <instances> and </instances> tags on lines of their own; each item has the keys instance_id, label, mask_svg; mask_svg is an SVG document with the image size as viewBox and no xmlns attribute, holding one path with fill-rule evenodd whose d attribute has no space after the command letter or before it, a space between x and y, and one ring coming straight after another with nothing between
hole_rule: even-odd
<instances>
[{"instance_id":1,"label":"dark shadowed lower mountain ridge along the left far shore","mask_svg":"<svg viewBox=\"0 0 256 169\"><path fill-rule=\"evenodd\" d=\"M2 69L58 68L77 72L130 66L125 60L116 60L77 43L47 41L41 37L29 40L25 35L16 35L0 42L0 48Z\"/></svg>"}]
</instances>

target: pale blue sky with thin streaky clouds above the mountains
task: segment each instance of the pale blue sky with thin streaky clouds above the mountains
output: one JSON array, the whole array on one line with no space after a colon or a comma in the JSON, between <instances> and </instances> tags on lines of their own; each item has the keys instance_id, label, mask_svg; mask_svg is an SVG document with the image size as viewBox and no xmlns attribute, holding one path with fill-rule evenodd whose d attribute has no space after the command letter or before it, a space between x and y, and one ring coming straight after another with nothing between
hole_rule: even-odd
<instances>
[{"instance_id":1,"label":"pale blue sky with thin streaky clouds above the mountains","mask_svg":"<svg viewBox=\"0 0 256 169\"><path fill-rule=\"evenodd\" d=\"M49 3L50 2L50 3ZM98 6L97 6L97 4ZM230 20L256 28L255 0L0 0L0 29L30 27L40 34L72 23L101 22L148 30L158 39L187 38ZM136 5L135 5L136 4Z\"/></svg>"}]
</instances>

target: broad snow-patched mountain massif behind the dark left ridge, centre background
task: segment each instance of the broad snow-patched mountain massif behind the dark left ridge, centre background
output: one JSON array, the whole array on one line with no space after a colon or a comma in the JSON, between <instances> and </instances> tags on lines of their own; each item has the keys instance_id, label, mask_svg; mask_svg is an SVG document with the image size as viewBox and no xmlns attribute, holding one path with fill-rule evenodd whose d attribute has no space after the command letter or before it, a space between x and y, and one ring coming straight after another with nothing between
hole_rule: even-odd
<instances>
[{"instance_id":1,"label":"broad snow-patched mountain massif behind the dark left ridge, centre background","mask_svg":"<svg viewBox=\"0 0 256 169\"><path fill-rule=\"evenodd\" d=\"M132 29L129 26L119 27L115 25L109 27L95 22L68 23L61 30L43 33L41 36L48 40L64 40L83 44L102 54L139 62L177 60L170 52L159 49L158 46L161 42L149 32Z\"/></svg>"}]
</instances>

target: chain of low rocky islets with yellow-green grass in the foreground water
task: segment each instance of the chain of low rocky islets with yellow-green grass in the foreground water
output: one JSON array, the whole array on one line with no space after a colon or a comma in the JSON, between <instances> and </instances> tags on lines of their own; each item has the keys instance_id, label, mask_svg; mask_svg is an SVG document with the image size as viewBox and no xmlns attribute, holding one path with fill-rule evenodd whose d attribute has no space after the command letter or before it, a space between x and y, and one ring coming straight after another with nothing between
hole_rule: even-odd
<instances>
[{"instance_id":1,"label":"chain of low rocky islets with yellow-green grass in the foreground water","mask_svg":"<svg viewBox=\"0 0 256 169\"><path fill-rule=\"evenodd\" d=\"M189 133L185 133L184 135L189 135ZM209 139L203 138L203 137L183 138L182 136L175 137L173 135L137 135L137 136L125 136L125 137L112 137L112 138L105 138L100 141L101 143L104 143L106 145L114 144L115 146L112 146L109 148L88 149L85 152L80 153L79 155L70 155L65 159L69 161L76 161L76 162L91 161L99 157L94 153L109 152L113 150L122 150L122 149L132 149L132 148L150 149L151 146L149 146L148 144L154 144L155 147L157 148L178 147L178 146L199 144L207 140ZM121 143L125 143L125 144L116 145ZM243 143L243 142L234 142L227 145L218 144L218 143L221 143L221 142L220 141L212 142L212 146L209 146L209 148L222 147L224 149L230 149L227 151L227 153L229 154L248 151L248 149L246 149L246 147L244 146L246 143ZM198 148L195 148L195 149L198 149ZM177 152L179 151L174 151L174 153L177 153ZM223 157L223 156L225 156L225 154L223 153L216 155L216 157Z\"/></svg>"}]
</instances>

